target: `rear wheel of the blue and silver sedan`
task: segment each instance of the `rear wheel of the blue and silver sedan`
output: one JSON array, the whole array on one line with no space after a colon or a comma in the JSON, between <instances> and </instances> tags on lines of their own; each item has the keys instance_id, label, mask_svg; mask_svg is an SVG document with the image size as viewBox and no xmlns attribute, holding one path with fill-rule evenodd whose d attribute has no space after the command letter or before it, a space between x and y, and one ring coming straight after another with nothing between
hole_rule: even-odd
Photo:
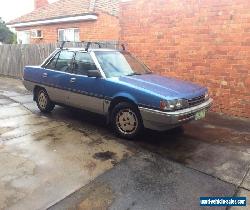
<instances>
[{"instance_id":1,"label":"rear wheel of the blue and silver sedan","mask_svg":"<svg viewBox=\"0 0 250 210\"><path fill-rule=\"evenodd\" d=\"M36 103L41 112L50 113L55 108L55 104L50 100L45 89L39 88L35 94Z\"/></svg>"}]
</instances>

